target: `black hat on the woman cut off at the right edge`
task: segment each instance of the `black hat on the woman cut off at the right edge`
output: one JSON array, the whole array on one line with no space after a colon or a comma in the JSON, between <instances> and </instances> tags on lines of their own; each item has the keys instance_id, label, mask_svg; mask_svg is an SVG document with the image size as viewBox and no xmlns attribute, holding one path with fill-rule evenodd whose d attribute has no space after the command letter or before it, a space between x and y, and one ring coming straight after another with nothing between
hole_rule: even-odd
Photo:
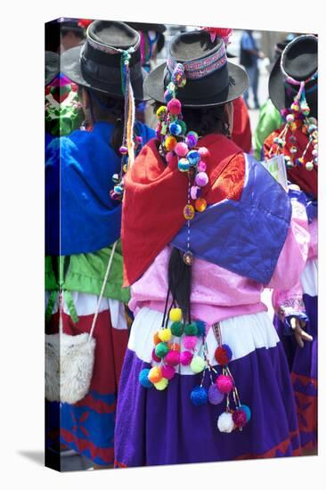
<instances>
[{"instance_id":1,"label":"black hat on the woman cut off at the right edge","mask_svg":"<svg viewBox=\"0 0 326 490\"><path fill-rule=\"evenodd\" d=\"M310 116L317 117L318 99L318 40L313 35L295 37L286 45L275 62L268 83L273 105L282 110L289 108L298 90L299 82L306 81L306 102ZM314 77L315 75L315 77ZM297 83L294 83L295 80Z\"/></svg>"}]
</instances>

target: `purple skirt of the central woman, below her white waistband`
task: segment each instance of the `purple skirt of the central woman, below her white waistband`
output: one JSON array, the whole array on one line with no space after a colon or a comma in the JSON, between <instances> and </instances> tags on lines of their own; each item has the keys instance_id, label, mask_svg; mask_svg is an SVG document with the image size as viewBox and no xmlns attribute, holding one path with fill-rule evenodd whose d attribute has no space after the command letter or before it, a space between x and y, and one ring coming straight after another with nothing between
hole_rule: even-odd
<instances>
[{"instance_id":1,"label":"purple skirt of the central woman, below her white waistband","mask_svg":"<svg viewBox=\"0 0 326 490\"><path fill-rule=\"evenodd\" d=\"M237 322L254 316L238 317ZM272 323L270 328L273 330ZM136 354L137 348L131 346L132 343L129 340L119 383L116 467L300 454L289 367L278 339L274 347L251 349L248 355L229 363L241 403L249 405L252 414L241 431L232 433L217 429L217 418L224 412L224 404L192 404L190 394L194 386L200 384L202 373L175 374L164 391L143 388L138 380L139 373L151 367L151 363ZM137 343L139 345L139 339ZM217 366L217 371L220 369Z\"/></svg>"}]
</instances>

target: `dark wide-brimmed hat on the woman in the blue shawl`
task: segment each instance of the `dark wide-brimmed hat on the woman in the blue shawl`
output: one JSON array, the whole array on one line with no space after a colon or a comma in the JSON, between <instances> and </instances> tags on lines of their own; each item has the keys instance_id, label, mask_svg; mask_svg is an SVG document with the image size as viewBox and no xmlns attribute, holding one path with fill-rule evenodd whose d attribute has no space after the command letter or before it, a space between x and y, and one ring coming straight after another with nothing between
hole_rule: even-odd
<instances>
[{"instance_id":1,"label":"dark wide-brimmed hat on the woman in the blue shawl","mask_svg":"<svg viewBox=\"0 0 326 490\"><path fill-rule=\"evenodd\" d=\"M77 85L123 97L121 78L123 53L130 54L130 81L134 98L143 100L140 35L124 22L94 20L86 31L86 42L61 55L61 72Z\"/></svg>"}]
</instances>

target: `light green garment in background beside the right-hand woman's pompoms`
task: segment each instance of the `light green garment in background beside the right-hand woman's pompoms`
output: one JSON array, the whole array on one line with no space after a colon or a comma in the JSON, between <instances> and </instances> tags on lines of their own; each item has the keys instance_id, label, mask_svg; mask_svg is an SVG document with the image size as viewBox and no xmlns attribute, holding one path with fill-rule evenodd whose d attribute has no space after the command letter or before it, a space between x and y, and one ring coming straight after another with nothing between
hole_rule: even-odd
<instances>
[{"instance_id":1,"label":"light green garment in background beside the right-hand woman's pompoms","mask_svg":"<svg viewBox=\"0 0 326 490\"><path fill-rule=\"evenodd\" d=\"M261 159L261 151L267 136L271 135L282 124L283 119L279 110L273 105L271 99L267 99L260 108L257 129L254 135L254 154L257 160Z\"/></svg>"}]
</instances>

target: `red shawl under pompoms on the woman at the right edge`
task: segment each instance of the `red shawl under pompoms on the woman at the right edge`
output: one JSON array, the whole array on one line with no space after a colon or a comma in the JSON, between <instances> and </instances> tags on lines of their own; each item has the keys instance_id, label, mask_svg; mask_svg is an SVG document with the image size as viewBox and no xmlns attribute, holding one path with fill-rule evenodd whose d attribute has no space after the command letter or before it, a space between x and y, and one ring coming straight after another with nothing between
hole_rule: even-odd
<instances>
[{"instance_id":1,"label":"red shawl under pompoms on the woman at the right edge","mask_svg":"<svg viewBox=\"0 0 326 490\"><path fill-rule=\"evenodd\" d=\"M265 139L264 142L265 157L267 157L269 154L269 151L273 145L273 139L276 136L280 135L283 127L284 125L280 129L274 131L271 135L268 136L268 138ZM289 143L289 136L291 134L292 132L288 131L286 135L286 144L282 151L284 155L290 155L289 148L292 146L292 143ZM294 135L297 138L297 142L295 143L295 145L297 146L297 157L301 157L303 151L306 148L306 143L308 143L308 136L304 135L301 129L297 129ZM306 152L305 161L310 161L314 158L312 151L313 151L313 146L310 145L308 151ZM317 198L317 193L318 193L317 167L315 165L313 170L306 170L305 167L287 168L287 174L288 174L289 181L292 184L297 184L300 187L301 191L307 192L309 194L313 194L314 198Z\"/></svg>"}]
</instances>

